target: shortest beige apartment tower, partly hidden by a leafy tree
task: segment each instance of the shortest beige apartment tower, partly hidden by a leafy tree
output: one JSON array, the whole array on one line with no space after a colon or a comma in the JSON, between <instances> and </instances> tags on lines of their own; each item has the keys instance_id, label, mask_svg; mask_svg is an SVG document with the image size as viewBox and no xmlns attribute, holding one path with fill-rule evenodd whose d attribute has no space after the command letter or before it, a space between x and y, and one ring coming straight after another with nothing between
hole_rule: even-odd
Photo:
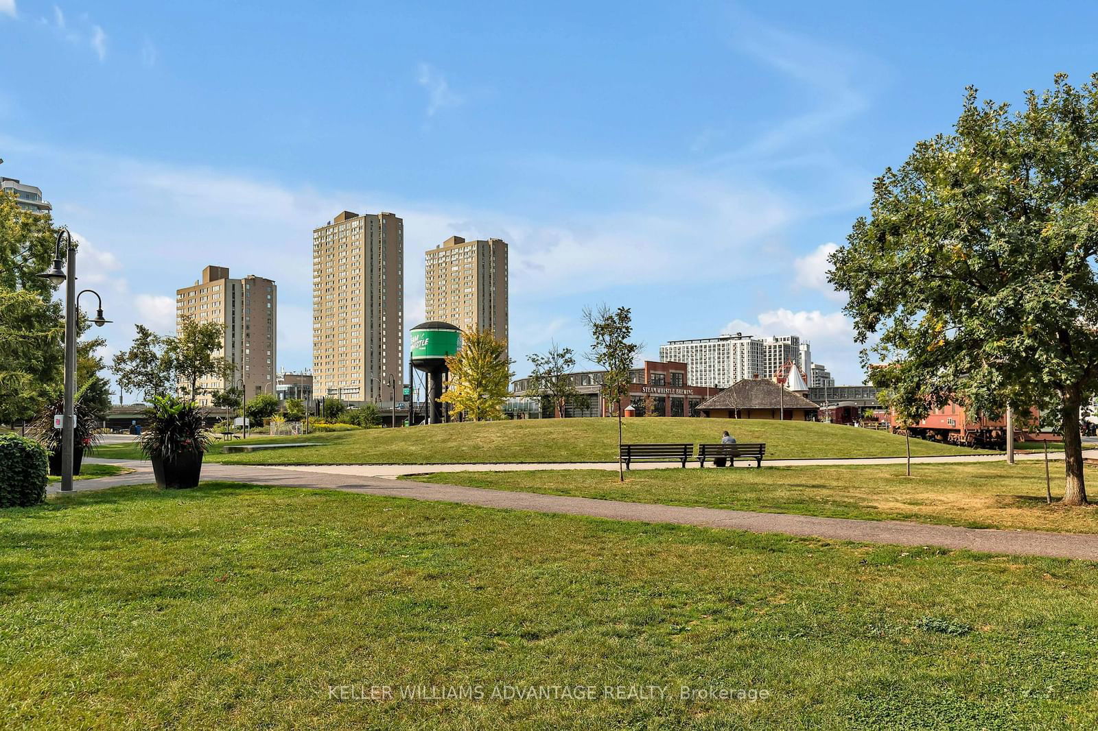
<instances>
[{"instance_id":1,"label":"shortest beige apartment tower, partly hidden by a leafy tree","mask_svg":"<svg viewBox=\"0 0 1098 731\"><path fill-rule=\"evenodd\" d=\"M220 323L225 338L216 355L234 367L231 379L199 381L199 405L211 406L214 391L229 389L239 379L248 398L274 393L277 313L278 288L272 280L255 274L229 279L227 267L206 267L201 281L176 290L176 326L187 316L199 323Z\"/></svg>"}]
</instances>

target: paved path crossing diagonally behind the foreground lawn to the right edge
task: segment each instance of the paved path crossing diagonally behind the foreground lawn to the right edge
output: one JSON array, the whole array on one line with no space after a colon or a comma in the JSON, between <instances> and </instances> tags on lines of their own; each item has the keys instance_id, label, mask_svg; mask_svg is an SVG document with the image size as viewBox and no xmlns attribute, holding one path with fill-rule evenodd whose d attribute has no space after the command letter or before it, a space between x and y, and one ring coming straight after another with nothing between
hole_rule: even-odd
<instances>
[{"instance_id":1,"label":"paved path crossing diagonally behind the foreground lawn to the right edge","mask_svg":"<svg viewBox=\"0 0 1098 731\"><path fill-rule=\"evenodd\" d=\"M148 462L93 460L112 462L134 469L116 477L82 480L79 492L102 490L123 484L142 484L153 480ZM424 465L415 465L427 472ZM464 465L469 466L478 465ZM590 469L590 465L586 465ZM529 468L527 468L529 469ZM615 469L617 466L615 465ZM1029 530L985 530L932 526L898 520L851 520L813 516L750 513L718 508L681 507L624 503L586 497L539 495L535 493L462 487L396 481L391 476L341 473L336 468L272 468L210 463L202 468L204 480L250 482L288 487L312 487L386 495L412 499L460 503L514 510L535 510L565 515L583 515L613 520L670 522L684 526L728 528L753 532L778 532L791 536L817 537L829 540L862 541L898 546L937 546L988 553L1037 555L1098 561L1098 535L1053 533Z\"/></svg>"}]
</instances>

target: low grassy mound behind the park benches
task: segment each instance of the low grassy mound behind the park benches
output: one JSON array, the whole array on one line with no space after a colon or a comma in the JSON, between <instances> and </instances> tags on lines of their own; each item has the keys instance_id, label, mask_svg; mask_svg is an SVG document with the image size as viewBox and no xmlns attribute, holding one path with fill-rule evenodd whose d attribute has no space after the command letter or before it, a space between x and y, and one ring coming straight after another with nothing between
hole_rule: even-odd
<instances>
[{"instance_id":1,"label":"low grassy mound behind the park benches","mask_svg":"<svg viewBox=\"0 0 1098 731\"><path fill-rule=\"evenodd\" d=\"M728 429L739 441L766 442L769 459L904 456L903 437L834 424L636 418L625 419L623 425L626 442L715 442L719 441L721 431ZM215 450L209 459L242 464L603 462L617 459L617 421L607 418L367 429L315 435L307 440L323 442L323 446L244 454L220 454L220 450ZM265 441L302 441L302 438ZM973 453L973 450L912 439L911 453L957 454ZM103 456L110 454L104 452Z\"/></svg>"}]
</instances>

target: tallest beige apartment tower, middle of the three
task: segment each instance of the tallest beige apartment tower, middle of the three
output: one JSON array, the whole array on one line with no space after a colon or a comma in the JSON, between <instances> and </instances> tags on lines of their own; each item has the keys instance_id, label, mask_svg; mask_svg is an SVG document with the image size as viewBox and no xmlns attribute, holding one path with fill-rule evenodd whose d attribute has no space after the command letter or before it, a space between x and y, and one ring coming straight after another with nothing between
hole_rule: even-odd
<instances>
[{"instance_id":1,"label":"tallest beige apartment tower, middle of the three","mask_svg":"<svg viewBox=\"0 0 1098 731\"><path fill-rule=\"evenodd\" d=\"M404 222L344 211L313 230L313 398L403 401Z\"/></svg>"}]
</instances>

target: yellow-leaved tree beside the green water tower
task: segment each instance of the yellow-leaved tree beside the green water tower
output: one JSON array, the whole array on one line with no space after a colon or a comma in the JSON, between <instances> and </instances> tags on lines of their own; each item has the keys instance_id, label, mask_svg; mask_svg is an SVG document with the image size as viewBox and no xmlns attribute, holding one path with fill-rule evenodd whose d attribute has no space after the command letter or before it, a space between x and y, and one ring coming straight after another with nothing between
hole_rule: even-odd
<instances>
[{"instance_id":1,"label":"yellow-leaved tree beside the green water tower","mask_svg":"<svg viewBox=\"0 0 1098 731\"><path fill-rule=\"evenodd\" d=\"M507 341L492 330L462 333L461 348L446 358L450 387L439 401L453 404L473 421L503 418L513 362L507 358Z\"/></svg>"}]
</instances>

